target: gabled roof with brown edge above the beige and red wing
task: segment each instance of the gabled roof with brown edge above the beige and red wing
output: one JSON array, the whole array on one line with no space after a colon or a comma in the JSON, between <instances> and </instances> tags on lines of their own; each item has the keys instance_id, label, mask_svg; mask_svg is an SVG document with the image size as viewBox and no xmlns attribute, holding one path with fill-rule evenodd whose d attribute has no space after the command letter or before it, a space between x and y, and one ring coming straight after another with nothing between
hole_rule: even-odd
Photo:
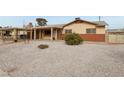
<instances>
[{"instance_id":1,"label":"gabled roof with brown edge above the beige and red wing","mask_svg":"<svg viewBox=\"0 0 124 93\"><path fill-rule=\"evenodd\" d=\"M72 22L70 22L68 24L65 24L64 27L68 26L70 24L73 24L75 22L86 22L86 23L97 25L97 26L106 26L106 25L108 25L105 21L94 21L94 22L91 22L91 21L86 21L86 20L82 20L82 19L78 18L78 19L75 19L74 21L72 21Z\"/></svg>"}]
</instances>

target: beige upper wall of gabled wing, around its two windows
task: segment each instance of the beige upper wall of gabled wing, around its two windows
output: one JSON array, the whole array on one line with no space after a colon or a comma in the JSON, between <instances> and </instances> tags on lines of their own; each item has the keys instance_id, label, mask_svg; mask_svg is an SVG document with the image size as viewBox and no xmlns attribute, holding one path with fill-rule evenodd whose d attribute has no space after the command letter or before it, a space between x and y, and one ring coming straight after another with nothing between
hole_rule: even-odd
<instances>
[{"instance_id":1,"label":"beige upper wall of gabled wing, around its two windows","mask_svg":"<svg viewBox=\"0 0 124 93\"><path fill-rule=\"evenodd\" d=\"M73 23L63 28L62 34L65 34L66 29L72 29L72 33L86 34L86 29L96 28L96 34L105 34L105 27L96 27L94 24L89 23Z\"/></svg>"}]
</instances>

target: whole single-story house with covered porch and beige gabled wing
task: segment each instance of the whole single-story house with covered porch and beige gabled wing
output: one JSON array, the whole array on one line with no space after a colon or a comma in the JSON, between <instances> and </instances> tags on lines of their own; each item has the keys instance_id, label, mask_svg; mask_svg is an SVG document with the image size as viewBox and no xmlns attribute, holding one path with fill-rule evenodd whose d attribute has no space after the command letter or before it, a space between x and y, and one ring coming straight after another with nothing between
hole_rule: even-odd
<instances>
[{"instance_id":1,"label":"whole single-story house with covered porch and beige gabled wing","mask_svg":"<svg viewBox=\"0 0 124 93\"><path fill-rule=\"evenodd\" d=\"M64 35L68 33L78 33L84 40L88 41L105 41L106 26L108 24L104 21L90 22L75 18L74 21L67 24L56 24L31 27L24 29L27 32L27 37L31 40L36 39L49 39L49 40L61 40L64 39ZM6 29L0 29L5 31ZM22 29L12 29L12 31L19 31ZM19 33L16 33L19 35Z\"/></svg>"}]
</instances>

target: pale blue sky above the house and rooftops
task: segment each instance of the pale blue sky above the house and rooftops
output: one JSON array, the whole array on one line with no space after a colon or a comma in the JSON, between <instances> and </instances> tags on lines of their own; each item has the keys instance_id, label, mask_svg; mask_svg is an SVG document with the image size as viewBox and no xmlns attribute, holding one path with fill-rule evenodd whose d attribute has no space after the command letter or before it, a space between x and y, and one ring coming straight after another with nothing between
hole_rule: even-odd
<instances>
[{"instance_id":1,"label":"pale blue sky above the house and rooftops","mask_svg":"<svg viewBox=\"0 0 124 93\"><path fill-rule=\"evenodd\" d=\"M0 16L0 26L22 27L23 24L33 22L36 18L46 18L48 24L64 24L80 17L88 21L98 21L98 16ZM124 28L124 16L101 16L101 20L109 24L109 28Z\"/></svg>"}]
</instances>

